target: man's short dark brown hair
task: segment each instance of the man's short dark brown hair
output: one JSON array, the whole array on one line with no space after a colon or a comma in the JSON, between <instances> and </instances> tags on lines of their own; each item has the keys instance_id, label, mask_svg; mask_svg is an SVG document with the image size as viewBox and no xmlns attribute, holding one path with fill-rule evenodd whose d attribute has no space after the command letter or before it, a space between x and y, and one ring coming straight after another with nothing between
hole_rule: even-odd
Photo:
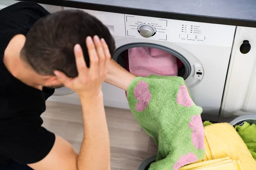
<instances>
[{"instance_id":1,"label":"man's short dark brown hair","mask_svg":"<svg viewBox=\"0 0 256 170\"><path fill-rule=\"evenodd\" d=\"M58 11L32 26L20 55L40 75L54 75L54 71L59 70L68 77L76 77L74 45L81 45L87 67L90 67L85 39L94 35L105 39L113 56L115 42L101 21L81 10Z\"/></svg>"}]
</instances>

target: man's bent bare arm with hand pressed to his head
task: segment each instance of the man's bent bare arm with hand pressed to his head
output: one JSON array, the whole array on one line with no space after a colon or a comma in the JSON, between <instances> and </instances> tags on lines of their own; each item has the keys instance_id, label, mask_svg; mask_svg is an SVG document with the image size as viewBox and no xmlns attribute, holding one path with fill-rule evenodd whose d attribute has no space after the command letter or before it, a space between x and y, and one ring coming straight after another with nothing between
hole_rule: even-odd
<instances>
[{"instance_id":1,"label":"man's bent bare arm with hand pressed to his head","mask_svg":"<svg viewBox=\"0 0 256 170\"><path fill-rule=\"evenodd\" d=\"M80 45L76 45L79 76L69 78L60 71L55 71L59 81L76 91L80 97L84 122L84 139L80 152L77 154L71 144L56 136L49 154L41 161L29 164L35 170L110 170L110 144L101 85L108 73L111 56L107 44L104 40L100 41L99 37L94 37L94 43L87 37L86 42L90 68L85 64Z\"/></svg>"}]
</instances>

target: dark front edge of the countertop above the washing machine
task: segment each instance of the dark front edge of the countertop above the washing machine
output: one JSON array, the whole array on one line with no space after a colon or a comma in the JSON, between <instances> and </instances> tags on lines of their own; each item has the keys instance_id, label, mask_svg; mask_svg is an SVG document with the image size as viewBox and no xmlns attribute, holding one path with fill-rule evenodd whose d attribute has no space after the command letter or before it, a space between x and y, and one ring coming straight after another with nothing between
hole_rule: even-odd
<instances>
[{"instance_id":1,"label":"dark front edge of the countertop above the washing machine","mask_svg":"<svg viewBox=\"0 0 256 170\"><path fill-rule=\"evenodd\" d=\"M221 25L230 25L230 26L245 26L245 27L256 27L256 21L254 20L238 20L234 18L221 18L221 17L211 17L204 15L190 15L190 14L181 14L181 13L172 13L172 12L163 12L163 11L153 11L147 9L137 9L137 8L127 8L121 6L109 6L95 3L85 3L79 1L70 1L70 0L22 0L27 2L42 3L47 5L55 6L64 6L71 8L81 8L89 9L95 11L106 11L113 13L121 14L131 14L131 15L141 15L147 17L158 17L166 18L173 20L184 20L184 21L194 21L200 23L213 23Z\"/></svg>"}]
</instances>

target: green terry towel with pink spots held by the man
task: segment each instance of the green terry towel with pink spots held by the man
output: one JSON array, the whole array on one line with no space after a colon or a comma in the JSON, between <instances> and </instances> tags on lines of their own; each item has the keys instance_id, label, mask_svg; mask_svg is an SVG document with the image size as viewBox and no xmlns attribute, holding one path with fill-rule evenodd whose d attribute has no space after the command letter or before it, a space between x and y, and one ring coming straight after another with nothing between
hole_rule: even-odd
<instances>
[{"instance_id":1,"label":"green terry towel with pink spots held by the man","mask_svg":"<svg viewBox=\"0 0 256 170\"><path fill-rule=\"evenodd\" d=\"M136 77L127 98L140 127L158 147L148 170L179 170L204 158L202 108L192 101L182 77Z\"/></svg>"}]
</instances>

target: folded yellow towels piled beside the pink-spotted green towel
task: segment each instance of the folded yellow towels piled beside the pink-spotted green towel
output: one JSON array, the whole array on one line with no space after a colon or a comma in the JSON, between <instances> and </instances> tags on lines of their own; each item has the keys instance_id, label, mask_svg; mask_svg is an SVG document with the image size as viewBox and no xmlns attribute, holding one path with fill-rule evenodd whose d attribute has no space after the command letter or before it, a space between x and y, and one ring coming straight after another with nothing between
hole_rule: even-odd
<instances>
[{"instance_id":1,"label":"folded yellow towels piled beside the pink-spotted green towel","mask_svg":"<svg viewBox=\"0 0 256 170\"><path fill-rule=\"evenodd\" d=\"M228 123L207 125L204 133L204 159L180 170L256 170L256 161L233 126Z\"/></svg>"}]
</instances>

